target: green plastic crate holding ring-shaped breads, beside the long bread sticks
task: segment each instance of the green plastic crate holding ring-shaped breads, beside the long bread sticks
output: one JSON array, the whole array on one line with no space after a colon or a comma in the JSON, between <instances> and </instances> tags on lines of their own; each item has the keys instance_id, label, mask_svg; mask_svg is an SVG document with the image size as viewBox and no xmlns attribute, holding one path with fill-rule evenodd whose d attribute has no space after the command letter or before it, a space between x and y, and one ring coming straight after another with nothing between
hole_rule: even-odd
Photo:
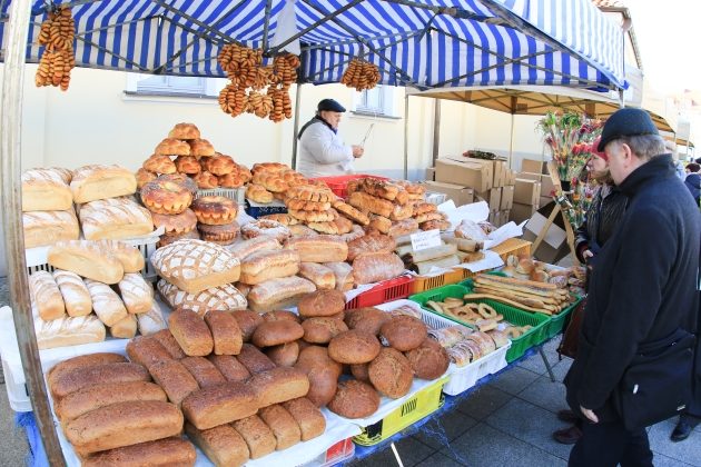
<instances>
[{"instance_id":1,"label":"green plastic crate holding ring-shaped breads, beside the long bread sticks","mask_svg":"<svg viewBox=\"0 0 701 467\"><path fill-rule=\"evenodd\" d=\"M467 287L460 286L460 285L445 286L445 287L440 287L437 289L428 290L422 294L412 295L409 296L409 300L416 301L427 311L443 316L444 318L447 318L451 321L454 321L464 326L470 326L466 322L463 322L460 319L454 318L452 316L438 314L434 309L427 308L425 305L430 300L443 301L448 297L463 298L466 294L470 294L471 290L472 289L468 289ZM513 325L533 326L533 328L530 329L527 332L525 332L523 336L516 339L512 339L511 348L506 352L507 362L514 361L515 359L523 356L523 354L525 354L527 349L545 340L545 327L547 326L547 321L550 321L550 318L547 316L523 311L523 310L510 307L509 305L504 305L498 301L494 301L490 299L478 299L478 300L473 300L473 301L476 304L486 304L491 306L492 308L494 308L496 312L498 312L500 315L504 317L504 320Z\"/></svg>"}]
</instances>

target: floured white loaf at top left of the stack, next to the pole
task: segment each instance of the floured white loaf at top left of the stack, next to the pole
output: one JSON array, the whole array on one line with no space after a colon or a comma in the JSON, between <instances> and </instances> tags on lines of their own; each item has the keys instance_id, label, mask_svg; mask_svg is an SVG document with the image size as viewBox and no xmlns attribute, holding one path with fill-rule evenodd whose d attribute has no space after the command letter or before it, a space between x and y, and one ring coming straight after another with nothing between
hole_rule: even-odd
<instances>
[{"instance_id":1,"label":"floured white loaf at top left of the stack, next to the pole","mask_svg":"<svg viewBox=\"0 0 701 467\"><path fill-rule=\"evenodd\" d=\"M73 193L56 169L30 169L22 173L22 211L66 211L73 208Z\"/></svg>"}]
</instances>

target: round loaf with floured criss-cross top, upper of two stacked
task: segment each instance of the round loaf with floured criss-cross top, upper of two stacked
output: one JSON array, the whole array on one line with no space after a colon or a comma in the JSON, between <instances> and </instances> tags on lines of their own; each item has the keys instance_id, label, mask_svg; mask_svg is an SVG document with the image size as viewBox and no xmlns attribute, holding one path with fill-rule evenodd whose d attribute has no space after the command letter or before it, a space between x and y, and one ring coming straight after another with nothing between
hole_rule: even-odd
<instances>
[{"instance_id":1,"label":"round loaf with floured criss-cross top, upper of two stacked","mask_svg":"<svg viewBox=\"0 0 701 467\"><path fill-rule=\"evenodd\" d=\"M236 282L240 276L238 258L208 241L177 240L150 259L160 277L188 294Z\"/></svg>"}]
</instances>

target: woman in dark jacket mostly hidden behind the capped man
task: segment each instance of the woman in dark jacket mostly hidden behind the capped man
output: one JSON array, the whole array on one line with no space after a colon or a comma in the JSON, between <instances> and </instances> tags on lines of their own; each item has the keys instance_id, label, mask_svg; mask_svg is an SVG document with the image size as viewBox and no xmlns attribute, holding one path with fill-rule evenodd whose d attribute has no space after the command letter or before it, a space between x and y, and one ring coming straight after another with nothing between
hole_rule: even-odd
<instances>
[{"instance_id":1,"label":"woman in dark jacket mostly hidden behind the capped man","mask_svg":"<svg viewBox=\"0 0 701 467\"><path fill-rule=\"evenodd\" d=\"M596 261L596 255L604 246L606 240L611 238L619 220L623 217L625 211L625 205L628 202L625 196L619 191L613 185L613 179L609 172L609 160L605 152L598 152L595 148L599 146L599 138L592 145L592 157L586 163L590 178L594 179L599 187L594 192L594 199L592 205L586 211L586 219L584 223L576 230L574 245L577 259L586 265L588 268L592 268ZM581 314L584 307L577 308L576 312ZM581 316L572 316L571 322L581 322ZM576 327L576 326L575 326ZM572 331L577 329L572 329ZM570 336L571 331L567 329L565 336ZM561 410L557 413L557 417L564 421L571 421L572 425L569 428L559 429L553 433L553 437L556 441L573 445L582 436L581 419L574 415L572 410Z\"/></svg>"}]
</instances>

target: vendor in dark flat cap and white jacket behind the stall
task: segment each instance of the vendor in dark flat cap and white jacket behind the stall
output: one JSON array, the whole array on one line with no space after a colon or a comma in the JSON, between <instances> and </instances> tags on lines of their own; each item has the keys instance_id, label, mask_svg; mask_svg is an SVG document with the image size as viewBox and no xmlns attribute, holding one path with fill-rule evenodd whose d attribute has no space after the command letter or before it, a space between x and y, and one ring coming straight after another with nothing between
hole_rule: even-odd
<instances>
[{"instance_id":1,"label":"vendor in dark flat cap and white jacket behind the stall","mask_svg":"<svg viewBox=\"0 0 701 467\"><path fill-rule=\"evenodd\" d=\"M346 146L338 136L338 122L345 111L334 99L324 99L319 101L314 118L299 130L297 170L306 177L350 173L353 161L363 156L363 147Z\"/></svg>"}]
</instances>

